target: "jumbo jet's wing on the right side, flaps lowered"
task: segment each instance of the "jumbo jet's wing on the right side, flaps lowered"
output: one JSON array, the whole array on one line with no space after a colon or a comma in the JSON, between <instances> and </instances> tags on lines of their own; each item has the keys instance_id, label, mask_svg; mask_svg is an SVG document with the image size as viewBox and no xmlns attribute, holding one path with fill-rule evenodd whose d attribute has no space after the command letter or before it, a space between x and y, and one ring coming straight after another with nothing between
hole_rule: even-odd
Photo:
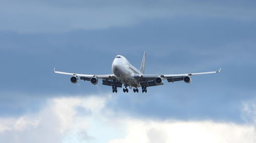
<instances>
[{"instance_id":1,"label":"jumbo jet's wing on the right side, flaps lowered","mask_svg":"<svg viewBox=\"0 0 256 143\"><path fill-rule=\"evenodd\" d=\"M152 87L155 85L161 85L156 84L155 79L157 77L161 77L162 79L167 79L168 82L174 82L174 81L181 81L184 80L185 76L191 76L191 75L201 75L201 74L211 74L211 73L219 73L221 72L221 68L218 71L211 71L211 72L199 72L199 73L185 73L185 74L134 74L134 77L140 82L140 84L146 87Z\"/></svg>"}]
</instances>

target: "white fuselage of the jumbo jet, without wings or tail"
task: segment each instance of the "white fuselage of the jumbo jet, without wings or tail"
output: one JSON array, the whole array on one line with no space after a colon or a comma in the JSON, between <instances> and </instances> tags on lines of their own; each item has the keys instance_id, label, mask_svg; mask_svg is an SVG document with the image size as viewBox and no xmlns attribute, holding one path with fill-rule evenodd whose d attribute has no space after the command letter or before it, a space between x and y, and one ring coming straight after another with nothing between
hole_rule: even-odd
<instances>
[{"instance_id":1,"label":"white fuselage of the jumbo jet, without wings or tail","mask_svg":"<svg viewBox=\"0 0 256 143\"><path fill-rule=\"evenodd\" d=\"M122 55L117 55L112 63L112 72L117 79L126 86L140 87L140 83L134 78L134 74L142 74L129 63Z\"/></svg>"}]
</instances>

